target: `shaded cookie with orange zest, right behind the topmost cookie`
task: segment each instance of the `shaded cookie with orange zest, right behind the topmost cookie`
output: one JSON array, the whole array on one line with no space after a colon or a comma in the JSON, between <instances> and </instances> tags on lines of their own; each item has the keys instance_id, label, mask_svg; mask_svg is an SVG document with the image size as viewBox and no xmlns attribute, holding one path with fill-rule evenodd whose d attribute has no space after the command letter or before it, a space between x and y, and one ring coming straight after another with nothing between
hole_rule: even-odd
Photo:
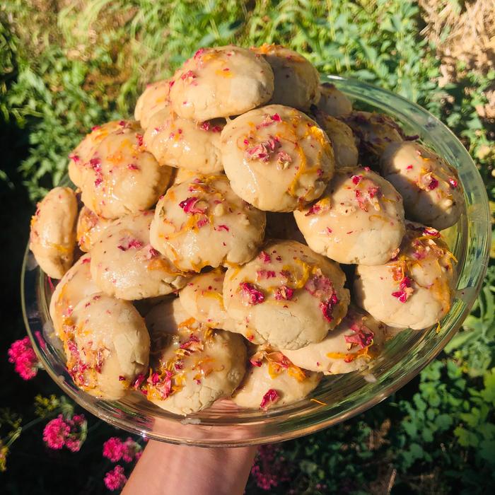
<instances>
[{"instance_id":1,"label":"shaded cookie with orange zest, right behind the topmost cookie","mask_svg":"<svg viewBox=\"0 0 495 495\"><path fill-rule=\"evenodd\" d=\"M274 92L269 103L294 108L309 108L320 100L320 74L298 52L280 45L253 47L251 50L270 64L274 74Z\"/></svg>"}]
</instances>

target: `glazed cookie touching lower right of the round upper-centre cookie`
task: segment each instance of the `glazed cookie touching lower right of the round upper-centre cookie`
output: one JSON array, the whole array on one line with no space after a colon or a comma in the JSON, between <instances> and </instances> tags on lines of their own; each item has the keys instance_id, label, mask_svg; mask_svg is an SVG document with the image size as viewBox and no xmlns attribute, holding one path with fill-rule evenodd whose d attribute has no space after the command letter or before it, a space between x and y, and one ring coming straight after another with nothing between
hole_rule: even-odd
<instances>
[{"instance_id":1,"label":"glazed cookie touching lower right of the round upper-centre cookie","mask_svg":"<svg viewBox=\"0 0 495 495\"><path fill-rule=\"evenodd\" d=\"M294 217L308 246L339 263L388 262L405 231L400 194L369 168L340 171Z\"/></svg>"}]
</instances>

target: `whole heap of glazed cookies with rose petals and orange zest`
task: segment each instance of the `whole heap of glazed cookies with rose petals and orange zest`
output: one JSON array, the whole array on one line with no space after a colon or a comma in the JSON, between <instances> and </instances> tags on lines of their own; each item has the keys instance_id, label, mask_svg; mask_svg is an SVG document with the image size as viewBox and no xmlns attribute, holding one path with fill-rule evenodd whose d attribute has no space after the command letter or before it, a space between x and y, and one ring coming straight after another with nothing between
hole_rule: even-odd
<instances>
[{"instance_id":1,"label":"whole heap of glazed cookies with rose petals and orange zest","mask_svg":"<svg viewBox=\"0 0 495 495\"><path fill-rule=\"evenodd\" d=\"M175 414L303 399L450 310L455 170L277 45L202 48L70 154L30 249L79 388ZM76 262L74 262L76 260Z\"/></svg>"}]
</instances>

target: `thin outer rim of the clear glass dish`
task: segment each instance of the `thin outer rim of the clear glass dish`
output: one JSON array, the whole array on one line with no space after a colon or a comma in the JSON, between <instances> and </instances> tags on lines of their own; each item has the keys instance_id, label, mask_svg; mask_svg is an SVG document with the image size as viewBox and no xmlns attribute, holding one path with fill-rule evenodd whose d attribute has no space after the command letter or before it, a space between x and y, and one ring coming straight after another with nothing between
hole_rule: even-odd
<instances>
[{"instance_id":1,"label":"thin outer rim of the clear glass dish","mask_svg":"<svg viewBox=\"0 0 495 495\"><path fill-rule=\"evenodd\" d=\"M337 83L338 86L341 86L340 89L344 91L344 93L347 93L351 97L353 96L352 92L354 91L354 97L359 99L360 93L356 93L359 89L363 91L371 91L372 93L375 93L376 95L382 95L384 97L384 100L387 98L392 98L392 100L398 100L402 102L403 105L406 105L409 107L409 111L415 110L416 112L419 112L419 114L423 115L423 117L426 117L428 122L432 122L434 126L439 127L441 129L441 132L444 134L446 133L447 136L450 136L450 139L455 145L455 151L460 153L460 158L459 160L463 160L466 163L469 164L470 168L472 169L471 171L475 171L476 173L474 174L474 180L477 181L477 184L474 187L475 189L477 188L478 193L481 190L482 197L479 197L479 199L482 199L482 204L479 206L484 206L484 210L486 211L486 215L483 216L481 215L481 218L478 219L479 225L477 226L477 232L480 235L479 238L479 245L474 246L474 248L478 248L479 250L479 257L478 257L478 262L479 259L481 258L481 265L480 269L477 272L476 279L474 280L474 286L470 286L470 294L465 298L465 303L462 304L462 308L459 309L458 314L455 316L452 325L450 325L448 331L443 332L441 338L437 340L436 343L434 343L424 354L424 356L421 356L421 359L419 361L414 363L414 366L409 369L407 373L404 373L404 375L401 378L397 378L395 380L392 380L391 383L388 385L384 385L381 392L379 394L375 394L373 397L366 401L361 401L359 402L359 405L356 407L352 408L351 410L348 410L347 412L344 412L343 414L340 414L338 417L335 416L329 416L326 419L322 418L321 412L325 411L325 406L320 407L320 409L314 409L313 412L315 414L305 414L305 408L301 407L284 407L284 408L279 408L279 409L274 409L273 412L268 412L268 413L260 413L257 412L257 416L259 417L261 414L263 414L262 419L258 419L257 421L262 421L263 424L268 424L270 426L276 426L277 420L278 419L284 419L284 414L286 414L286 411L289 409L293 411L293 417L297 419L301 419L301 417L305 420L308 421L308 419L313 419L313 421L308 421L308 424L305 424L304 426L301 426L301 424L298 424L298 426L294 428L289 428L286 431L277 432L274 431L271 434L264 434L262 438L246 438L240 441L233 441L233 440L228 440L228 441L209 441L209 439L202 439L202 441L194 441L191 439L182 439L182 438L165 438L163 435L157 435L153 433L152 431L148 431L146 429L143 429L142 426L138 426L136 424L130 424L127 420L122 420L118 419L115 416L112 416L112 414L106 413L101 407L98 407L98 402L91 401L88 402L87 400L84 399L84 396L86 394L83 394L81 391L75 391L73 388L69 387L69 385L66 383L65 380L61 380L59 375L52 369L52 366L50 366L50 363L47 362L47 358L45 357L45 353L40 349L40 345L37 342L37 339L35 338L34 332L32 332L29 318L28 318L28 310L26 308L26 290L29 290L28 287L25 286L25 276L27 274L27 269L26 269L26 263L28 261L28 253L29 249L26 248L25 252L25 258L23 261L23 268L21 272L21 303L22 303L22 309L23 309L23 318L26 326L26 330L28 332L28 335L31 339L31 342L33 342L33 348L35 349L35 352L40 359L40 361L43 363L45 366L45 370L51 378L59 385L64 392L69 395L73 400L75 400L81 407L84 409L87 409L89 412L92 414L95 414L95 416L100 417L100 419L103 419L107 421L108 423L112 424L113 426L117 426L119 428L125 429L127 431L132 431L133 433L139 433L139 434L144 434L148 436L148 438L153 438L156 440L160 441L168 441L170 443L187 443L191 445L199 445L199 446L211 446L211 447L228 447L228 446L243 446L243 445L252 445L253 443L261 444L261 443L269 443L272 441L281 441L281 440L289 440L291 438L296 438L298 436L303 436L309 433L314 433L315 431L319 431L320 429L327 428L329 426L332 426L333 424L337 424L340 421L344 421L345 419L349 419L350 417L355 416L356 414L360 414L364 410L373 407L375 404L380 402L381 400L384 400L386 397L391 395L393 392L404 386L409 380L414 378L421 369L424 368L424 366L427 366L431 360L433 360L445 347L446 344L450 341L450 339L453 337L455 332L457 332L458 328L460 325L462 325L462 321L465 319L467 314L470 311L470 308L472 307L472 304L474 303L477 293L479 292L481 288L482 281L484 279L484 274L486 273L487 269L487 264L488 264L488 258L489 258L489 232L490 232L490 224L489 224L489 210L488 210L488 198L487 198L487 192L484 189L482 178L479 176L479 173L477 172L476 166L474 165L474 162L472 161L472 158L470 157L469 153L465 150L464 146L460 143L460 141L457 139L457 137L453 134L453 132L448 129L448 127L445 127L444 124L442 124L439 120L436 119L436 117L433 117L429 112L427 112L424 108L420 107L416 103L412 103L406 98L402 97L401 95L397 95L395 93L391 93L388 90L384 90L382 88L378 88L376 86L373 86L369 83L363 83L362 81L356 81L352 78L344 78L341 76L322 76L324 81L330 82L330 83ZM344 84L349 85L350 88L344 88ZM347 90L347 91L346 91ZM361 97L363 98L363 97ZM378 96L377 96L378 98ZM364 98L363 98L364 99ZM367 103L369 103L369 95L368 99L366 100ZM373 101L373 105L375 107L384 107L385 103L383 103L382 100L376 100ZM385 105L386 106L386 105ZM396 116L396 114L395 114ZM433 125L432 124L432 125ZM433 127L434 127L433 126ZM470 185L471 186L471 185ZM480 187L482 186L482 187ZM468 202L468 204L470 204ZM466 221L467 217L469 214L466 214ZM484 224L485 228L483 228ZM467 226L469 228L470 226ZM484 235L483 235L484 231ZM472 239L467 236L467 245L464 247L466 252L469 250L470 245L472 244ZM464 263L462 266L462 269L465 269L465 264L467 262L467 254L465 254L465 259ZM473 261L471 262L471 264ZM402 358L404 359L404 358ZM106 402L106 401L100 401L100 402ZM331 408L328 408L331 409ZM318 412L320 411L320 412ZM252 414L246 414L246 416L249 418L250 415ZM318 418L313 418L313 416L317 416ZM245 421L244 424L250 424L252 421L248 419L248 421ZM232 426L230 425L224 425L224 426Z\"/></svg>"}]
</instances>

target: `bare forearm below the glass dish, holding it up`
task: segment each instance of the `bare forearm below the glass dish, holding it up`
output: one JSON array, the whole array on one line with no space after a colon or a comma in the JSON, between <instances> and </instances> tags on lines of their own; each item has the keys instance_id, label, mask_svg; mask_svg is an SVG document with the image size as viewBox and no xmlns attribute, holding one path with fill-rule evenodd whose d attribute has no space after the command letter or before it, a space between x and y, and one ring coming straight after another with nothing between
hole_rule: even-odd
<instances>
[{"instance_id":1,"label":"bare forearm below the glass dish, holding it up","mask_svg":"<svg viewBox=\"0 0 495 495\"><path fill-rule=\"evenodd\" d=\"M202 448L148 441L122 495L240 495L256 447Z\"/></svg>"}]
</instances>

